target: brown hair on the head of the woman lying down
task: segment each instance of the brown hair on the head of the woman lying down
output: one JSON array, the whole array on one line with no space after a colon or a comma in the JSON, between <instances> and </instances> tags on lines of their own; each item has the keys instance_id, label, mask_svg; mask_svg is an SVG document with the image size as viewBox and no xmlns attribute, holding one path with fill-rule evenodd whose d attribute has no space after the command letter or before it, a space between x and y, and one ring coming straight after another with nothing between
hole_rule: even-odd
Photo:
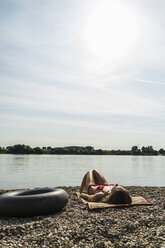
<instances>
[{"instance_id":1,"label":"brown hair on the head of the woman lying down","mask_svg":"<svg viewBox=\"0 0 165 248\"><path fill-rule=\"evenodd\" d=\"M129 192L124 188L115 187L104 202L112 204L130 204L132 202Z\"/></svg>"}]
</instances>

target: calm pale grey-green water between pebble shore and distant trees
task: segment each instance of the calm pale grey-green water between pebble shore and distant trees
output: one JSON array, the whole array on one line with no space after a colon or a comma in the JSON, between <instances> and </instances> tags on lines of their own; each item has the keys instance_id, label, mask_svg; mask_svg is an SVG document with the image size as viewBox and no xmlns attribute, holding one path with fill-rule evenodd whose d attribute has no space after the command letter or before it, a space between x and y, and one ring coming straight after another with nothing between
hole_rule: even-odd
<instances>
[{"instance_id":1,"label":"calm pale grey-green water between pebble shore and distant trees","mask_svg":"<svg viewBox=\"0 0 165 248\"><path fill-rule=\"evenodd\" d=\"M0 155L0 189L78 186L88 170L109 183L165 186L163 156Z\"/></svg>"}]
</instances>

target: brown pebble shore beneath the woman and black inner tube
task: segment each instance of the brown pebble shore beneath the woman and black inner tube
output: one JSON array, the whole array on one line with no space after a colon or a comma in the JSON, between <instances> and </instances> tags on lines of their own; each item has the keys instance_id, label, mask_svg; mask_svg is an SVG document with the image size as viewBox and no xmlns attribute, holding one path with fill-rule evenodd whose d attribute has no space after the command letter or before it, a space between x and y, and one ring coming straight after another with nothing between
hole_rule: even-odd
<instances>
[{"instance_id":1,"label":"brown pebble shore beneath the woman and black inner tube","mask_svg":"<svg viewBox=\"0 0 165 248\"><path fill-rule=\"evenodd\" d=\"M61 188L69 194L69 202L58 214L0 217L0 247L165 247L165 187L126 187L151 206L92 211L78 200L79 187Z\"/></svg>"}]
</instances>

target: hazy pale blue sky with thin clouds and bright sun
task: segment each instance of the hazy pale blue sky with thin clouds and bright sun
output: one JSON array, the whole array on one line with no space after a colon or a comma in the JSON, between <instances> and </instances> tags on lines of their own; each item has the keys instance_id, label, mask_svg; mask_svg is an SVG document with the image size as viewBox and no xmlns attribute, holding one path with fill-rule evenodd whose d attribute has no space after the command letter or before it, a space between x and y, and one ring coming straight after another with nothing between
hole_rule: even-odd
<instances>
[{"instance_id":1,"label":"hazy pale blue sky with thin clouds and bright sun","mask_svg":"<svg viewBox=\"0 0 165 248\"><path fill-rule=\"evenodd\" d=\"M165 148L165 1L0 0L0 146Z\"/></svg>"}]
</instances>

